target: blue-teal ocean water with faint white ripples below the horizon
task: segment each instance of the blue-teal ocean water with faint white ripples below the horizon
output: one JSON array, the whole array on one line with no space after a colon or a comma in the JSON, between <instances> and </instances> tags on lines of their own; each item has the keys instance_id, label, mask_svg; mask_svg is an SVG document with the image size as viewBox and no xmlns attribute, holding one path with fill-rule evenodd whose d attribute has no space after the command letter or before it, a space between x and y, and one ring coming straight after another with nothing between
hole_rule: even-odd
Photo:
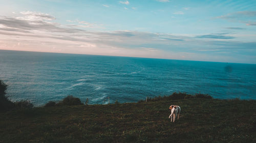
<instances>
[{"instance_id":1,"label":"blue-teal ocean water with faint white ripples below the horizon","mask_svg":"<svg viewBox=\"0 0 256 143\"><path fill-rule=\"evenodd\" d=\"M89 104L137 102L173 92L256 99L256 65L0 50L12 101L34 105L68 95Z\"/></svg>"}]
</instances>

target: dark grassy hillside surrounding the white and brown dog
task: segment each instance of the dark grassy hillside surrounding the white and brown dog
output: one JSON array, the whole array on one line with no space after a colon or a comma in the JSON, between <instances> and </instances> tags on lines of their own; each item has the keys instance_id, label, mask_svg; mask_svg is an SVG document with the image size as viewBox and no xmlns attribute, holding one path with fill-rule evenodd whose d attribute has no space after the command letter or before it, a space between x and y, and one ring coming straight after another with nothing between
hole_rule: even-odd
<instances>
[{"instance_id":1,"label":"dark grassy hillside surrounding the white and brown dog","mask_svg":"<svg viewBox=\"0 0 256 143\"><path fill-rule=\"evenodd\" d=\"M171 123L168 107L181 107ZM256 142L256 101L189 98L0 112L0 142Z\"/></svg>"}]
</instances>

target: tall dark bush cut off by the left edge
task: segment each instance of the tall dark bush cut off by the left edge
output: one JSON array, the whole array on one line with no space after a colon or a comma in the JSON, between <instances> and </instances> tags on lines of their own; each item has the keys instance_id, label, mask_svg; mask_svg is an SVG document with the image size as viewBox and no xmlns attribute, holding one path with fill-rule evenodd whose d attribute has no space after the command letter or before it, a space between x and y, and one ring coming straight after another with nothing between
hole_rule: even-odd
<instances>
[{"instance_id":1,"label":"tall dark bush cut off by the left edge","mask_svg":"<svg viewBox=\"0 0 256 143\"><path fill-rule=\"evenodd\" d=\"M7 85L3 80L0 80L0 110L8 110L14 107L13 102L11 102L6 95Z\"/></svg>"}]
</instances>

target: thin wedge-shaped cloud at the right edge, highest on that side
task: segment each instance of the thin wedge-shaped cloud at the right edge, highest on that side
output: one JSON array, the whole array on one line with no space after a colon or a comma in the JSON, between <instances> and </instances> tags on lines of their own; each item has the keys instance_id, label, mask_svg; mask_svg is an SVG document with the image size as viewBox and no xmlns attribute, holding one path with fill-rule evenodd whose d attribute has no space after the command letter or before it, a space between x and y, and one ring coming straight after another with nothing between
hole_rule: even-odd
<instances>
[{"instance_id":1,"label":"thin wedge-shaped cloud at the right edge, highest on that side","mask_svg":"<svg viewBox=\"0 0 256 143\"><path fill-rule=\"evenodd\" d=\"M228 13L226 15L215 17L216 19L225 19L231 22L241 22L246 25L256 25L256 11L239 11Z\"/></svg>"}]
</instances>

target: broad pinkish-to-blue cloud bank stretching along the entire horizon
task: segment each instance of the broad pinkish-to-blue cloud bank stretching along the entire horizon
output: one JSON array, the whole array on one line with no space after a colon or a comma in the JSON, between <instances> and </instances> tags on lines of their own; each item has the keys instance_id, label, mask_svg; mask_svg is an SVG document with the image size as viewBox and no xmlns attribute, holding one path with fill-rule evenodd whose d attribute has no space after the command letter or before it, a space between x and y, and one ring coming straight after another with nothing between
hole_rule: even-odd
<instances>
[{"instance_id":1,"label":"broad pinkish-to-blue cloud bank stretching along the entire horizon","mask_svg":"<svg viewBox=\"0 0 256 143\"><path fill-rule=\"evenodd\" d=\"M206 57L209 61L218 61L218 58L212 58L219 57L220 53L239 53L239 57L255 55L256 42L235 41L236 37L232 36L232 33L194 36L128 30L92 32L79 28L79 25L90 25L88 21L67 21L74 26L65 26L49 18L29 20L1 16L0 49L183 60L205 60L203 57ZM209 58L209 55L212 57ZM184 58L181 58L182 56Z\"/></svg>"}]
</instances>

